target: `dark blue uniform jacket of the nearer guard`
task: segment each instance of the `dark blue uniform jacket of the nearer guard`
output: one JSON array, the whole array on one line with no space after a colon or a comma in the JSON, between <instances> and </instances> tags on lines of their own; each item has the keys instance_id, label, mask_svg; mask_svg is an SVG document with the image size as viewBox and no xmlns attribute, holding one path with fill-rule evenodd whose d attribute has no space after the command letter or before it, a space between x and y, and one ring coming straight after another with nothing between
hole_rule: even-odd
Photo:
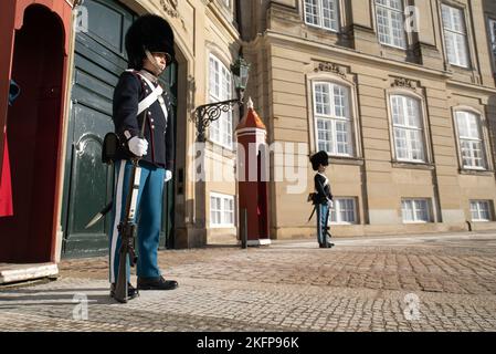
<instances>
[{"instance_id":1,"label":"dark blue uniform jacket of the nearer guard","mask_svg":"<svg viewBox=\"0 0 496 354\"><path fill-rule=\"evenodd\" d=\"M173 110L170 101L170 94L163 87L163 101L166 104L168 116L163 115L163 111L159 101L154 102L148 110L137 117L138 103L145 98L154 87L140 79L135 72L124 72L114 91L113 121L115 132L120 139L120 148L118 158L128 159L133 154L127 147L127 140L139 135L143 119L145 123L145 138L148 140L148 152L140 163L148 163L157 167L169 170L173 169ZM126 136L124 133L129 132Z\"/></svg>"}]
</instances>

